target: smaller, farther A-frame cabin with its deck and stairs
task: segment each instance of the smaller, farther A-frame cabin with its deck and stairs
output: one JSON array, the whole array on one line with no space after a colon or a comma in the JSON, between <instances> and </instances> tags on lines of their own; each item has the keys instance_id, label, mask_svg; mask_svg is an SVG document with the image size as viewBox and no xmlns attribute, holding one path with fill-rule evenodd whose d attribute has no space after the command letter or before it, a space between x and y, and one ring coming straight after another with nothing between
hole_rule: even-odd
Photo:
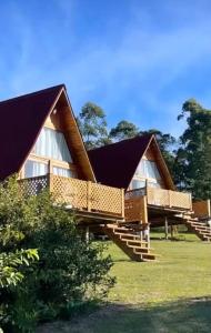
<instances>
[{"instance_id":1,"label":"smaller, farther A-frame cabin with its deck and stairs","mask_svg":"<svg viewBox=\"0 0 211 333\"><path fill-rule=\"evenodd\" d=\"M184 223L211 240L211 230L199 221L200 214L209 218L209 202L192 203L191 193L177 191L154 135L94 149L89 157L99 182L124 189L127 223L142 228Z\"/></svg>"}]
</instances>

